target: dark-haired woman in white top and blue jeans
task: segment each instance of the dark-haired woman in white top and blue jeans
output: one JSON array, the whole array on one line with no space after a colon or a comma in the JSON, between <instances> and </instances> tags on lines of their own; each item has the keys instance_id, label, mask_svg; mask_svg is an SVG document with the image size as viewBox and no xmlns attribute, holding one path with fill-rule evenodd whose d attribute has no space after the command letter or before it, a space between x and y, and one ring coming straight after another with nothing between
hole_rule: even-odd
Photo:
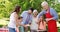
<instances>
[{"instance_id":1,"label":"dark-haired woman in white top and blue jeans","mask_svg":"<svg viewBox=\"0 0 60 32\"><path fill-rule=\"evenodd\" d=\"M18 13L20 12L21 7L16 6L14 12L10 15L10 22L8 24L9 32L16 32L16 27L18 26Z\"/></svg>"}]
</instances>

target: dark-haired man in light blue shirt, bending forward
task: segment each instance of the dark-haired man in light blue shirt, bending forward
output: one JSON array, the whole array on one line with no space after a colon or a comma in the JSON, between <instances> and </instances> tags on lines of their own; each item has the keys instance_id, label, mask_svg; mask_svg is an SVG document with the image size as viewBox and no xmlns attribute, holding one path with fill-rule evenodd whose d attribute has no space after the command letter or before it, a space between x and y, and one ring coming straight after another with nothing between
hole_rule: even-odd
<instances>
[{"instance_id":1,"label":"dark-haired man in light blue shirt, bending forward","mask_svg":"<svg viewBox=\"0 0 60 32\"><path fill-rule=\"evenodd\" d=\"M28 27L26 26L27 24L30 24L32 21L32 13L33 13L33 8L29 8L28 11L24 11L21 16L23 17L22 24L25 27L25 32L27 32Z\"/></svg>"}]
</instances>

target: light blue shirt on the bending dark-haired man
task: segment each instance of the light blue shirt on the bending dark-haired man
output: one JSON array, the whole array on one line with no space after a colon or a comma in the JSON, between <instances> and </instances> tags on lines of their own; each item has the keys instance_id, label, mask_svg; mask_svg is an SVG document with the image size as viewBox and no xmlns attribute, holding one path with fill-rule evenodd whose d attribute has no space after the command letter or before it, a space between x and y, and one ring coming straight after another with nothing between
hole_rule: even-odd
<instances>
[{"instance_id":1,"label":"light blue shirt on the bending dark-haired man","mask_svg":"<svg viewBox=\"0 0 60 32\"><path fill-rule=\"evenodd\" d=\"M24 11L21 16L23 17L22 24L29 24L32 21L32 14L29 14L28 11Z\"/></svg>"}]
</instances>

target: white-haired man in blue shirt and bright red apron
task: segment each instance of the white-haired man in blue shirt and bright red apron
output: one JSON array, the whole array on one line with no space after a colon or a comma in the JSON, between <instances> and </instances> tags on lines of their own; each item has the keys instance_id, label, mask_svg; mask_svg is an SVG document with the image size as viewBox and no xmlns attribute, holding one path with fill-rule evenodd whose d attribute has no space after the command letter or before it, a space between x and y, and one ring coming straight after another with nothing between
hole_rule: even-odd
<instances>
[{"instance_id":1,"label":"white-haired man in blue shirt and bright red apron","mask_svg":"<svg viewBox=\"0 0 60 32\"><path fill-rule=\"evenodd\" d=\"M56 20L58 19L58 15L53 8L50 8L46 1L42 2L43 10L38 14L38 19L40 16L45 15L46 22L48 23L48 32L58 32Z\"/></svg>"}]
</instances>

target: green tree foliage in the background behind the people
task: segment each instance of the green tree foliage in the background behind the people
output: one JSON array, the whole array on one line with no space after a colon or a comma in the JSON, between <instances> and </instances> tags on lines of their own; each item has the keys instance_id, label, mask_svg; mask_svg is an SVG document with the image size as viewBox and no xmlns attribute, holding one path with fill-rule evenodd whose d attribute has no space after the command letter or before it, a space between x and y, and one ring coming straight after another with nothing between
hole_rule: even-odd
<instances>
[{"instance_id":1,"label":"green tree foliage in the background behind the people","mask_svg":"<svg viewBox=\"0 0 60 32\"><path fill-rule=\"evenodd\" d=\"M0 18L9 18L11 12L13 11L16 4L20 5L22 12L27 10L29 7L37 9L38 12L41 11L41 2L44 0L0 0ZM53 0L45 0L49 3L49 6L56 9L59 12L60 4L54 5Z\"/></svg>"}]
</instances>

